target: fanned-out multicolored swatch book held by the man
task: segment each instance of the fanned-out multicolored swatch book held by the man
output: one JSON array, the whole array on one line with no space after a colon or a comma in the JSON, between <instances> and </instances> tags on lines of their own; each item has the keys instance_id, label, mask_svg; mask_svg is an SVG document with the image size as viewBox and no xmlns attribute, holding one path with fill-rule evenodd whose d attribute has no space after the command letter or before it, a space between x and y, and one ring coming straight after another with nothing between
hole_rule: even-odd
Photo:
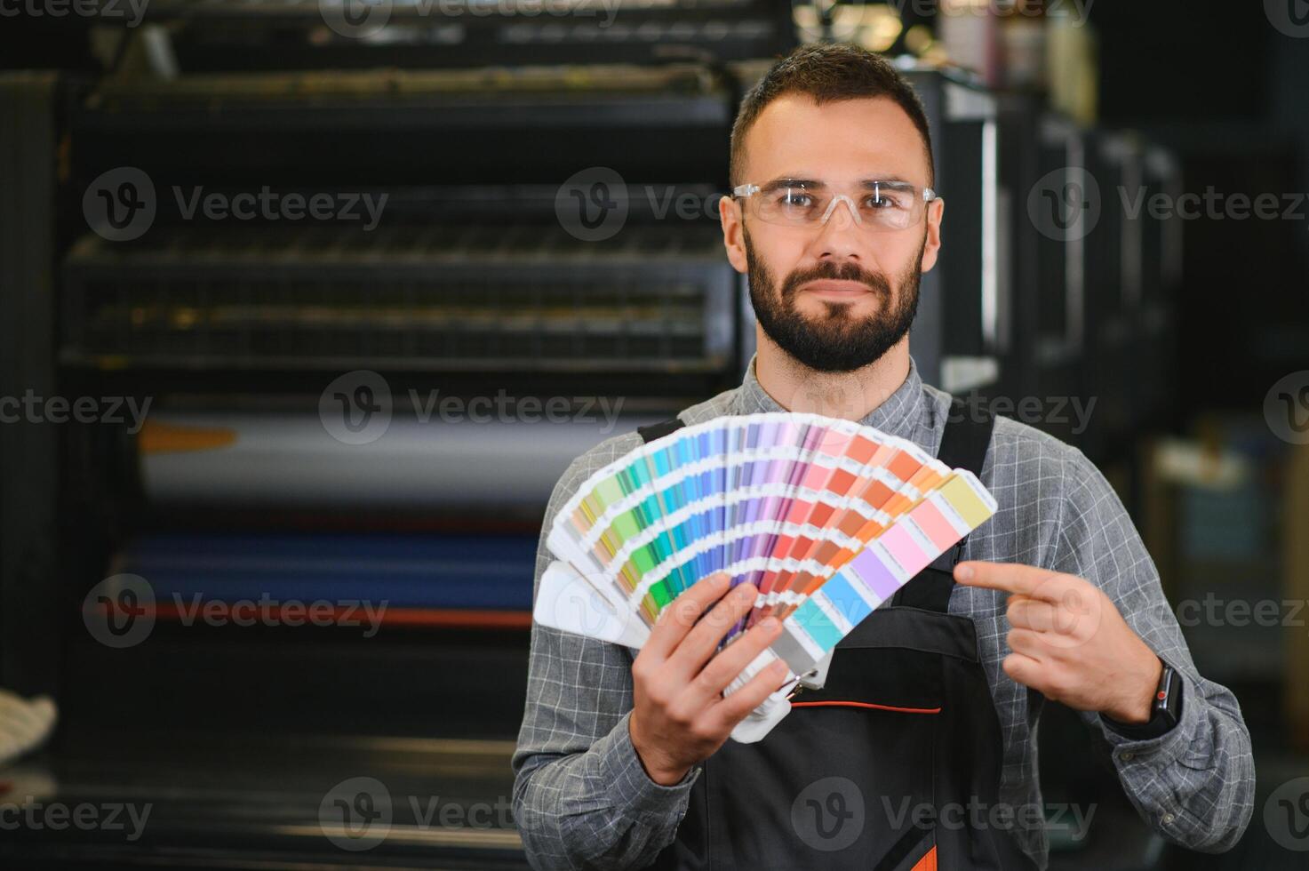
<instances>
[{"instance_id":1,"label":"fanned-out multicolored swatch book held by the man","mask_svg":"<svg viewBox=\"0 0 1309 871\"><path fill-rule=\"evenodd\" d=\"M610 462L559 510L538 622L639 648L702 578L759 589L724 644L764 616L784 631L728 689L776 658L795 680L910 578L995 513L970 472L872 427L753 414L683 427ZM789 705L788 681L733 737L758 740Z\"/></svg>"}]
</instances>

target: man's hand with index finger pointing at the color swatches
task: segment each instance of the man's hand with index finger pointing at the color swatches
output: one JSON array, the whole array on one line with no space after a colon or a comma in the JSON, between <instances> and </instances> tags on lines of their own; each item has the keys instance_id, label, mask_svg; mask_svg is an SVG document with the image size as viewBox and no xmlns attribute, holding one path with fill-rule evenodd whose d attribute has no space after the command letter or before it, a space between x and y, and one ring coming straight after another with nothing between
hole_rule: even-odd
<instances>
[{"instance_id":1,"label":"man's hand with index finger pointing at the color swatches","mask_svg":"<svg viewBox=\"0 0 1309 871\"><path fill-rule=\"evenodd\" d=\"M1035 566L970 561L954 567L969 587L1009 593L1004 673L1079 711L1119 723L1151 718L1162 663L1100 588Z\"/></svg>"}]
</instances>

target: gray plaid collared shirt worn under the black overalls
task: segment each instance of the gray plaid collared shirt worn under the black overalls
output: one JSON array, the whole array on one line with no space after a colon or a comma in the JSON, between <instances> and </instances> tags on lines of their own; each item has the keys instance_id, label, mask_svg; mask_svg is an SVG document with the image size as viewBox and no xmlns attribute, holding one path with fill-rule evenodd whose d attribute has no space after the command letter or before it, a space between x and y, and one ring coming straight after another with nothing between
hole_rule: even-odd
<instances>
[{"instance_id":1,"label":"gray plaid collared shirt worn under the black overalls","mask_svg":"<svg viewBox=\"0 0 1309 871\"><path fill-rule=\"evenodd\" d=\"M923 384L910 363L905 382L863 423L915 441L936 454L949 394ZM754 375L742 385L681 413L689 424L730 414L783 411ZM552 559L545 536L555 512L597 469L641 444L611 437L572 462L546 510L537 583ZM1254 807L1250 736L1232 693L1200 677L1131 519L1080 451L1009 418L997 418L982 483L999 511L967 538L965 559L1017 562L1088 579L1118 605L1128 625L1183 678L1182 722L1162 737L1132 741L1103 732L1123 787L1149 824L1195 850L1223 850L1245 830ZM1008 654L1003 593L957 585L950 613L977 625L982 661L1004 736L1003 804L1041 807L1034 732L1042 697L1000 668ZM632 749L632 651L531 627L528 702L517 751L514 817L537 868L640 868L670 843L700 768L682 782L649 779ZM1046 867L1039 828L1014 826L1022 847Z\"/></svg>"}]
</instances>

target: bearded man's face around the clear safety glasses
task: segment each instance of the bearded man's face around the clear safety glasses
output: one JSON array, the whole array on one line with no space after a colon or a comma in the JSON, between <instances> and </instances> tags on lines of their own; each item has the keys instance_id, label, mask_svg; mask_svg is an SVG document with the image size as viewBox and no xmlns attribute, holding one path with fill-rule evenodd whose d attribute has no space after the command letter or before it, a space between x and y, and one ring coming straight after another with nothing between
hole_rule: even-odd
<instances>
[{"instance_id":1,"label":"bearded man's face around the clear safety glasses","mask_svg":"<svg viewBox=\"0 0 1309 871\"><path fill-rule=\"evenodd\" d=\"M929 185L918 128L888 98L818 106L806 96L770 103L746 135L741 181L813 178L840 190L860 179ZM844 202L826 224L795 227L742 219L720 207L732 265L749 276L764 334L801 364L850 372L881 358L908 333L919 279L936 262L941 203L899 231L860 227ZM780 276L780 280L779 280Z\"/></svg>"}]
</instances>

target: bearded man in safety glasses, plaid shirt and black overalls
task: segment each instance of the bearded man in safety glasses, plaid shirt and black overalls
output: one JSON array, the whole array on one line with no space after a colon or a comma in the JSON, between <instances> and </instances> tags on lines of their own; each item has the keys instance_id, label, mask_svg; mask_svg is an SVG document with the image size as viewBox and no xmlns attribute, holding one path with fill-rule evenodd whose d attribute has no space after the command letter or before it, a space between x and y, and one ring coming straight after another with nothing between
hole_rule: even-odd
<instances>
[{"instance_id":1,"label":"bearded man in safety glasses, plaid shirt and black overalls","mask_svg":"<svg viewBox=\"0 0 1309 871\"><path fill-rule=\"evenodd\" d=\"M534 626L513 757L533 864L1043 868L1045 699L1105 735L1151 826L1230 847L1253 809L1249 733L1232 693L1196 672L1121 502L1077 449L1004 418L956 422L950 397L919 379L908 327L944 203L908 85L860 48L797 50L741 106L732 183L724 245L749 276L758 354L738 389L679 422L856 419L974 466L999 511L965 561L942 558L860 623L826 685L796 695L758 744L726 739L787 676L721 690L779 630L761 622L716 652L753 587L702 580L635 656ZM577 458L545 530L592 472L640 443ZM538 582L550 559L542 541Z\"/></svg>"}]
</instances>

